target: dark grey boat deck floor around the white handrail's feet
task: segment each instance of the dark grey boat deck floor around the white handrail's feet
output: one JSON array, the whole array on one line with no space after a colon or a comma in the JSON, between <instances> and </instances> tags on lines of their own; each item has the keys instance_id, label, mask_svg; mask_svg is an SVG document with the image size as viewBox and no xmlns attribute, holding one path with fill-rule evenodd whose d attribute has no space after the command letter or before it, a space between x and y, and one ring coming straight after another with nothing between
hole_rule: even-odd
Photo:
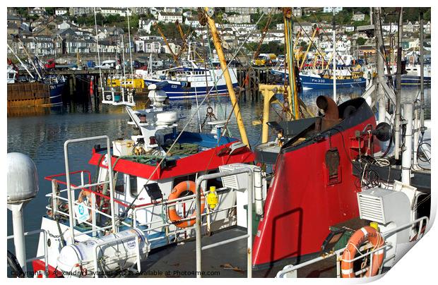
<instances>
[{"instance_id":1,"label":"dark grey boat deck floor around the white handrail's feet","mask_svg":"<svg viewBox=\"0 0 438 285\"><path fill-rule=\"evenodd\" d=\"M224 241L228 238L246 234L245 229L233 227L224 231L217 231L212 236L203 236L202 245ZM219 245L215 248L203 250L202 269L203 278L208 277L247 277L247 240L239 240L226 245ZM285 265L286 261L263 270L254 270L253 277L276 277L278 271ZM195 241L187 241L177 245L169 245L166 248L152 251L145 261L141 262L141 275L137 277L196 277L196 246ZM336 277L336 259L328 258L314 265L298 270L298 277Z\"/></svg>"}]
</instances>

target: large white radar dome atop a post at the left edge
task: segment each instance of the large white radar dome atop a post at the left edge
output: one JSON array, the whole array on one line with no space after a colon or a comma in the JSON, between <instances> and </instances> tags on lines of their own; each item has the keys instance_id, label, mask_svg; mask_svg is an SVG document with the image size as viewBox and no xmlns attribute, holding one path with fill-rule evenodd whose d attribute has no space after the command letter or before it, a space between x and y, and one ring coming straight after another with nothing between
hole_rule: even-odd
<instances>
[{"instance_id":1,"label":"large white radar dome atop a post at the left edge","mask_svg":"<svg viewBox=\"0 0 438 285\"><path fill-rule=\"evenodd\" d=\"M19 152L9 152L8 203L21 202L34 198L38 193L37 167L32 159Z\"/></svg>"}]
</instances>

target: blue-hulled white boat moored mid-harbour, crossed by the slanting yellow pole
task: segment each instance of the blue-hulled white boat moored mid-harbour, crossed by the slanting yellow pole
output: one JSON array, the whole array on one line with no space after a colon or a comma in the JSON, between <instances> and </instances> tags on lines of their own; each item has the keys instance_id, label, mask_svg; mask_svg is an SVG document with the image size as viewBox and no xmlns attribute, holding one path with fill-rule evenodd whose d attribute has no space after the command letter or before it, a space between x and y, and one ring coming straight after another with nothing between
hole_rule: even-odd
<instances>
[{"instance_id":1,"label":"blue-hulled white boat moored mid-harbour, crossed by the slanting yellow pole","mask_svg":"<svg viewBox=\"0 0 438 285\"><path fill-rule=\"evenodd\" d=\"M228 68L232 86L237 87L235 68ZM184 66L168 68L162 71L143 76L145 84L160 83L167 80L169 83L163 87L169 99L192 99L210 95L227 95L228 89L219 68L200 68L194 61L189 61Z\"/></svg>"}]
</instances>

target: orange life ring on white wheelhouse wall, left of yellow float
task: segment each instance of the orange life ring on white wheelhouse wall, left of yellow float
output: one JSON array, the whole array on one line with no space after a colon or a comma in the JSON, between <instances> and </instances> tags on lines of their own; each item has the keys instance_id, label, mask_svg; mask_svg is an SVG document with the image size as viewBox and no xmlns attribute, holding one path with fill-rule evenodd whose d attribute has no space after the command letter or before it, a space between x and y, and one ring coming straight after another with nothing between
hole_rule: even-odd
<instances>
[{"instance_id":1,"label":"orange life ring on white wheelhouse wall, left of yellow float","mask_svg":"<svg viewBox=\"0 0 438 285\"><path fill-rule=\"evenodd\" d=\"M205 202L202 195L202 188L200 189L201 189L201 213L202 213L205 207ZM196 194L196 184L194 183L194 181L182 181L178 183L178 185L172 189L172 192L170 192L170 195L167 198L167 200L177 199L179 198L179 195L181 195L181 193L185 191L190 191L194 195ZM193 214L191 214L189 219L184 220L182 222L178 222L183 218L179 216L179 214L177 213L177 207L175 204L167 208L167 215L169 216L170 221L174 222L174 225L178 226L179 228L187 228L187 226L192 226L195 224L196 221L196 211L195 211L193 212Z\"/></svg>"}]
</instances>

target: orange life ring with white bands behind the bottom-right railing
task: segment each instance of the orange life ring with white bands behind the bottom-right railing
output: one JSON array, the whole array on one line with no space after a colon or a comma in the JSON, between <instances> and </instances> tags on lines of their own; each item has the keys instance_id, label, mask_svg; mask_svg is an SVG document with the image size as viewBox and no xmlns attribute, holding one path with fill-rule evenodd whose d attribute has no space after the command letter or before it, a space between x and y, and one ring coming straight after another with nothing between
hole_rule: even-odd
<instances>
[{"instance_id":1,"label":"orange life ring with white bands behind the bottom-right railing","mask_svg":"<svg viewBox=\"0 0 438 285\"><path fill-rule=\"evenodd\" d=\"M365 241L369 241L372 244L372 250L376 248L380 248L384 245L384 238L381 236L379 231L372 228L371 226L364 226L362 229L359 229L350 237L347 243L347 247L344 250L342 255L341 262L341 273L342 278L355 278L355 272L353 271L353 260L355 258L357 250L360 248L360 245ZM381 267L384 260L384 250L377 250L373 253L371 267L367 269L365 273L366 277L372 277L379 272L379 268ZM370 270L372 269L372 270Z\"/></svg>"}]
</instances>

